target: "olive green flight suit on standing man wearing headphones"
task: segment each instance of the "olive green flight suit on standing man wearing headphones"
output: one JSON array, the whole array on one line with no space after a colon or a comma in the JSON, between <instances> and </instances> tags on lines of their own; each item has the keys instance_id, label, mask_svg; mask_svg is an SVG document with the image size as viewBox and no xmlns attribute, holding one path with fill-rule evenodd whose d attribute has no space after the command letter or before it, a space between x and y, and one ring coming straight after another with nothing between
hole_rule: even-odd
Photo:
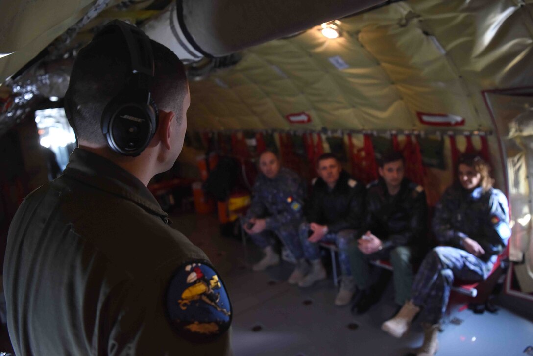
<instances>
[{"instance_id":1,"label":"olive green flight suit on standing man wearing headphones","mask_svg":"<svg viewBox=\"0 0 533 356\"><path fill-rule=\"evenodd\" d=\"M167 214L140 180L77 148L64 174L28 195L10 226L3 277L14 350L231 355L231 305L229 320L201 342L168 314L168 303L177 303L167 300L171 280L191 263L212 271L204 252L168 226ZM229 304L223 282L215 285L216 296ZM213 295L205 299L212 305ZM210 313L211 306L201 307ZM190 306L183 313L195 318L196 311Z\"/></svg>"}]
</instances>

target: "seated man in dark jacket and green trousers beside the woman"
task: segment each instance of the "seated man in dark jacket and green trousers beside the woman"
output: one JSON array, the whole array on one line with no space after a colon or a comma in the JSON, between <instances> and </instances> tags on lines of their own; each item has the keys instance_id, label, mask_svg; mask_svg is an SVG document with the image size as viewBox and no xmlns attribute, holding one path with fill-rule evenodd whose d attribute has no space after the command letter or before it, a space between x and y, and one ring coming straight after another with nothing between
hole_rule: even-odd
<instances>
[{"instance_id":1,"label":"seated man in dark jacket and green trousers beside the woman","mask_svg":"<svg viewBox=\"0 0 533 356\"><path fill-rule=\"evenodd\" d=\"M426 195L403 176L403 156L387 152L379 161L379 180L369 184L362 235L350 246L353 278L358 288L354 302L357 313L365 313L377 300L370 281L370 260L390 259L395 302L398 308L410 295L413 261L426 246Z\"/></svg>"}]
</instances>

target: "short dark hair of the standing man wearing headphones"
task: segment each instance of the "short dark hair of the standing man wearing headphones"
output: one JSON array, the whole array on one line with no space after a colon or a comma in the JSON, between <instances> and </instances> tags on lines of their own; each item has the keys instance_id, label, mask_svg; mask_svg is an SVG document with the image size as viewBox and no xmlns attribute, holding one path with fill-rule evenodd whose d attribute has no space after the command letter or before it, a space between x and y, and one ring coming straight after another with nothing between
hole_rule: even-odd
<instances>
[{"instance_id":1,"label":"short dark hair of the standing man wearing headphones","mask_svg":"<svg viewBox=\"0 0 533 356\"><path fill-rule=\"evenodd\" d=\"M100 128L103 109L128 85L131 70L129 52L119 36L106 35L91 42L74 62L65 107L78 139L106 143ZM173 111L179 118L188 90L185 68L171 50L150 42L155 66L150 92L159 109Z\"/></svg>"}]
</instances>

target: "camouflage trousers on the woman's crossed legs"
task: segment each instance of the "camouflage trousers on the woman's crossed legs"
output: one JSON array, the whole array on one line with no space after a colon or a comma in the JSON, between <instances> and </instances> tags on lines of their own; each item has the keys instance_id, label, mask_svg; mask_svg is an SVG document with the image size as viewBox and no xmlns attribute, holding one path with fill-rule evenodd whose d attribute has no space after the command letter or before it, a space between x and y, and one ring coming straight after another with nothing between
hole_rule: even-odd
<instances>
[{"instance_id":1,"label":"camouflage trousers on the woman's crossed legs","mask_svg":"<svg viewBox=\"0 0 533 356\"><path fill-rule=\"evenodd\" d=\"M424 307L424 321L440 322L450 296L454 279L479 282L492 270L491 262L483 262L469 252L449 246L435 247L424 258L415 276L411 299Z\"/></svg>"}]
</instances>

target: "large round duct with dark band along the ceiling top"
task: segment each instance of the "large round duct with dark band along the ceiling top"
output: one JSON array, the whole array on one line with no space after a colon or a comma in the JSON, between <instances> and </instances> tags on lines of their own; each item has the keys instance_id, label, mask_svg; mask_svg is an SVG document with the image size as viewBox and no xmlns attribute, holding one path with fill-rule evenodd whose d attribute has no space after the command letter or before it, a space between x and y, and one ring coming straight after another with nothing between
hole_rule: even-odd
<instances>
[{"instance_id":1,"label":"large round duct with dark band along the ceiling top","mask_svg":"<svg viewBox=\"0 0 533 356\"><path fill-rule=\"evenodd\" d=\"M143 30L184 62L222 57L384 0L177 0Z\"/></svg>"}]
</instances>

